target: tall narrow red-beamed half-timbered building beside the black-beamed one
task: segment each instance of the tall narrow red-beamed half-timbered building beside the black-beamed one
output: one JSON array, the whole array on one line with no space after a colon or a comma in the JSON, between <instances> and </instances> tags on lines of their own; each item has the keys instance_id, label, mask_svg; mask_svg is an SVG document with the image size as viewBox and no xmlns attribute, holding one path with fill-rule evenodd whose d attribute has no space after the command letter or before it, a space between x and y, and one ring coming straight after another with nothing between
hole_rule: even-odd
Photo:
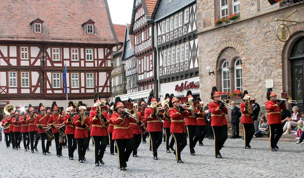
<instances>
[{"instance_id":1,"label":"tall narrow red-beamed half-timbered building beside the black-beamed one","mask_svg":"<svg viewBox=\"0 0 304 178\"><path fill-rule=\"evenodd\" d=\"M130 34L134 35L138 90L153 89L158 93L154 22L151 19L156 2L134 0Z\"/></svg>"}]
</instances>

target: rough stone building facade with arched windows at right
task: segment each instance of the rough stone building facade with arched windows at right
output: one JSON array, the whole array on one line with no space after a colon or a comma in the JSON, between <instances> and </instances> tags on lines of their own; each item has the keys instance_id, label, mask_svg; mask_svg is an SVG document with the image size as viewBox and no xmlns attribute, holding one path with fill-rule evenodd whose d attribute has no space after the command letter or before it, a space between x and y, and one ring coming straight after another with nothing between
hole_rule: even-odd
<instances>
[{"instance_id":1,"label":"rough stone building facade with arched windows at right","mask_svg":"<svg viewBox=\"0 0 304 178\"><path fill-rule=\"evenodd\" d=\"M240 18L216 26L214 21L221 17L223 9L221 2L197 0L202 100L211 101L212 86L217 86L219 91L230 89L232 92L241 84L242 90L247 90L263 105L266 101L266 81L273 81L272 88L278 98L281 98L281 92L287 92L297 100L298 104L289 104L288 109L297 105L302 112L304 2L285 3L282 6L280 3L270 5L264 0L240 1ZM233 2L228 0L225 6L228 16L233 13ZM290 29L290 38L281 42L276 36L276 28L281 22L275 19L283 19L296 9L299 10L287 20L299 23L285 22ZM212 68L213 75L208 74L207 67Z\"/></svg>"}]
</instances>

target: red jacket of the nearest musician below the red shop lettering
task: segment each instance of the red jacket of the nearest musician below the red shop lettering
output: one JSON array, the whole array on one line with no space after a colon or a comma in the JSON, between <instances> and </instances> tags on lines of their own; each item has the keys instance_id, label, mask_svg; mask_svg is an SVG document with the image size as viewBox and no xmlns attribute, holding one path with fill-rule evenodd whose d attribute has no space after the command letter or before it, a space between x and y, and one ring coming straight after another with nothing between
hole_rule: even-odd
<instances>
[{"instance_id":1,"label":"red jacket of the nearest musician below the red shop lettering","mask_svg":"<svg viewBox=\"0 0 304 178\"><path fill-rule=\"evenodd\" d=\"M186 133L184 118L189 115L188 111L178 112L178 108L172 107L169 110L169 115L171 117L171 133Z\"/></svg>"}]
</instances>

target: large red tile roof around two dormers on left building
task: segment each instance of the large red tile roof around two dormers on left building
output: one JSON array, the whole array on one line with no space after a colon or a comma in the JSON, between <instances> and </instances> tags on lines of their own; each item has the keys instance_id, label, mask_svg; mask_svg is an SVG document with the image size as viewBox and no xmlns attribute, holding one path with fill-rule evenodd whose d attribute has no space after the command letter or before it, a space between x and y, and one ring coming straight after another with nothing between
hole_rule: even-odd
<instances>
[{"instance_id":1,"label":"large red tile roof around two dormers on left building","mask_svg":"<svg viewBox=\"0 0 304 178\"><path fill-rule=\"evenodd\" d=\"M0 40L116 44L109 7L104 0L1 1ZM43 20L42 33L33 33L30 23ZM81 26L92 19L95 34Z\"/></svg>"}]
</instances>

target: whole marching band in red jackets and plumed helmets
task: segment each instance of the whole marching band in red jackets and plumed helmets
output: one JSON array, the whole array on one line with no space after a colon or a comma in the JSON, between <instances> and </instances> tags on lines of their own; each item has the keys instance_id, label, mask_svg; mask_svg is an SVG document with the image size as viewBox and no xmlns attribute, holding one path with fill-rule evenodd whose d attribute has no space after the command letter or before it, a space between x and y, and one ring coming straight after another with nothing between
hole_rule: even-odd
<instances>
[{"instance_id":1,"label":"whole marching band in red jackets and plumed helmets","mask_svg":"<svg viewBox=\"0 0 304 178\"><path fill-rule=\"evenodd\" d=\"M50 154L49 147L54 139L56 155L60 157L62 156L62 146L65 145L64 140L66 140L70 160L74 159L74 151L78 145L78 161L80 163L86 161L85 153L92 136L95 166L100 166L99 163L105 164L103 156L107 145L109 145L110 154L114 155L115 150L118 155L119 169L126 170L126 162L128 162L131 153L133 157L138 157L137 148L141 141L146 143L145 135L147 133L149 134L153 159L158 160L157 149L162 142L162 123L165 130L166 152L171 153L171 149L176 161L184 163L181 160L181 152L187 145L187 136L190 153L195 155L196 143L199 141L199 145L203 145L202 140L207 133L205 118L210 113L209 120L214 135L215 157L223 158L220 150L224 147L228 137L225 115L228 114L228 108L231 106L230 100L223 99L220 93L215 86L212 87L211 99L213 101L206 104L208 110L204 109L203 102L199 98L193 102L191 91L187 93L187 97L182 98L167 93L163 102L157 102L151 93L147 103L141 100L139 107L131 99L123 103L119 97L116 97L115 103L112 102L109 106L108 103L100 100L99 94L96 93L95 104L92 107L87 108L81 101L76 107L70 101L66 109L67 113L64 112L63 108L59 112L55 101L51 107L52 113L42 103L39 104L37 111L29 105L29 113L26 110L21 110L19 113L14 105L9 104L5 106L6 118L2 120L1 128L4 129L6 148L10 147L11 141L13 149L20 149L23 136L24 151L29 150L30 144L31 152L34 153L34 150L38 152L37 144L41 138L42 153L46 155ZM280 110L286 108L284 103L293 101L277 99L276 96L272 89L268 89L268 100L265 106L270 127L271 151L277 151L278 140L283 134L282 122L285 120L281 121ZM88 109L89 112L87 112ZM243 114L241 124L244 128L244 148L246 149L251 148L250 141L254 134L252 109L250 96L245 90L240 110ZM171 134L172 139L169 142ZM36 137L35 143L34 137ZM45 140L47 140L46 144Z\"/></svg>"}]
</instances>

